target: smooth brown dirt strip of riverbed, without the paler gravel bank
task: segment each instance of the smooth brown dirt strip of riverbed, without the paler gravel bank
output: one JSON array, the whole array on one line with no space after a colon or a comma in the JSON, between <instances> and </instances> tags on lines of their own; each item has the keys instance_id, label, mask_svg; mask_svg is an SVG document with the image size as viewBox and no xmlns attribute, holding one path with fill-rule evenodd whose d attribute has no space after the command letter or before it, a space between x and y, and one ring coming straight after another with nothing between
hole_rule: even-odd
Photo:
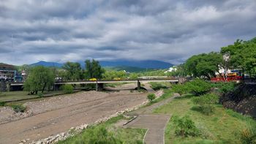
<instances>
[{"instance_id":1,"label":"smooth brown dirt strip of riverbed, without the paler gravel bank","mask_svg":"<svg viewBox=\"0 0 256 144\"><path fill-rule=\"evenodd\" d=\"M82 95L83 96L83 95ZM91 100L91 99L94 100ZM85 98L86 99L86 98ZM139 105L146 100L146 94L115 92L90 101L81 101L59 109L32 115L18 121L0 125L0 143L18 143L20 140L39 140L52 134L66 132L72 126L91 124L99 118L112 115L119 110Z\"/></svg>"}]
</instances>

